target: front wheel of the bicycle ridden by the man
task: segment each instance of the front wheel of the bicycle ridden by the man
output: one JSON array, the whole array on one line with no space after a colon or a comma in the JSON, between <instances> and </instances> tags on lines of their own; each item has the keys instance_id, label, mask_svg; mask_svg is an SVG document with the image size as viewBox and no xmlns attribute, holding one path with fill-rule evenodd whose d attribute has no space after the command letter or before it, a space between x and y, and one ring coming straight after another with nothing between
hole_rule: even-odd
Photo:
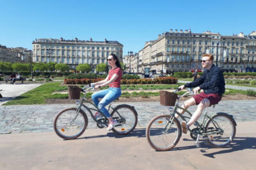
<instances>
[{"instance_id":1,"label":"front wheel of the bicycle ridden by the man","mask_svg":"<svg viewBox=\"0 0 256 170\"><path fill-rule=\"evenodd\" d=\"M147 141L155 150L170 150L179 142L181 136L180 122L174 118L171 125L170 118L170 115L156 116L147 126Z\"/></svg>"}]
</instances>

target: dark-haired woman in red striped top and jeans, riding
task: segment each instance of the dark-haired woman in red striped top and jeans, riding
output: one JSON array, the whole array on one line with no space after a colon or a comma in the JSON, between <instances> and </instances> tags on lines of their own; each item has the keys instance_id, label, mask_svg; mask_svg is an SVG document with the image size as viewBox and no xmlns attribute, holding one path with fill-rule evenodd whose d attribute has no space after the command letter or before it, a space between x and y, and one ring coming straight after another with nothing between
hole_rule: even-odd
<instances>
[{"instance_id":1,"label":"dark-haired woman in red striped top and jeans, riding","mask_svg":"<svg viewBox=\"0 0 256 170\"><path fill-rule=\"evenodd\" d=\"M115 54L108 56L108 64L112 68L109 70L108 76L105 80L92 83L91 85L95 86L95 89L109 85L109 89L100 90L92 94L93 103L99 108L99 110L108 118L109 124L107 130L111 130L115 124L116 120L113 120L108 110L104 108L109 103L114 101L116 98L121 96L121 78L122 78L122 69L120 62ZM101 98L101 101L99 101ZM95 118L100 118L102 115L100 113L95 113Z\"/></svg>"}]
</instances>

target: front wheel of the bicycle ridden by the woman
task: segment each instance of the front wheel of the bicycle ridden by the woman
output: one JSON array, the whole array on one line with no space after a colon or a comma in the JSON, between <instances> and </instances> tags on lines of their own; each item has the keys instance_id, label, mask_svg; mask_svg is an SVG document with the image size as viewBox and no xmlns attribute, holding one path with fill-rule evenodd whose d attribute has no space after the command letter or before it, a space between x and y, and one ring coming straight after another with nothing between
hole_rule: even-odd
<instances>
[{"instance_id":1,"label":"front wheel of the bicycle ridden by the woman","mask_svg":"<svg viewBox=\"0 0 256 170\"><path fill-rule=\"evenodd\" d=\"M55 118L54 131L60 138L76 139L85 131L88 118L82 110L77 114L76 110L76 108L67 108L60 111Z\"/></svg>"}]
</instances>

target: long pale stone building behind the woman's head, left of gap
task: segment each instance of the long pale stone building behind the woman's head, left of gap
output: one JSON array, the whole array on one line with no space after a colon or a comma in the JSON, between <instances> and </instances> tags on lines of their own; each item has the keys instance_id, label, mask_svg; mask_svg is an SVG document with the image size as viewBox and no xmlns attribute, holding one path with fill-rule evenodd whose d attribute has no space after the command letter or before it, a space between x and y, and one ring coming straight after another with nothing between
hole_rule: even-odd
<instances>
[{"instance_id":1,"label":"long pale stone building behind the woman's head, left of gap","mask_svg":"<svg viewBox=\"0 0 256 170\"><path fill-rule=\"evenodd\" d=\"M56 62L76 69L78 64L90 64L96 72L96 66L100 63L107 63L107 57L115 53L122 61L123 45L118 41L82 41L76 39L36 39L33 41L34 62Z\"/></svg>"}]
</instances>

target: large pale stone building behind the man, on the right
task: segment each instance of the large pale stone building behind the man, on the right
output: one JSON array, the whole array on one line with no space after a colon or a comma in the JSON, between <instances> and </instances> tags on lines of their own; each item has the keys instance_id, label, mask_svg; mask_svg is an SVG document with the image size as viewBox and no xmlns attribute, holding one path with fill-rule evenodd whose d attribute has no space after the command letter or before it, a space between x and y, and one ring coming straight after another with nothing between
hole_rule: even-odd
<instances>
[{"instance_id":1,"label":"large pale stone building behind the man, on the right","mask_svg":"<svg viewBox=\"0 0 256 170\"><path fill-rule=\"evenodd\" d=\"M200 60L204 53L214 55L214 64L224 71L254 71L256 69L256 32L244 35L221 36L206 31L193 33L191 30L159 34L147 41L139 52L139 68L143 73L149 67L153 73L170 74L174 71L202 69Z\"/></svg>"}]
</instances>

